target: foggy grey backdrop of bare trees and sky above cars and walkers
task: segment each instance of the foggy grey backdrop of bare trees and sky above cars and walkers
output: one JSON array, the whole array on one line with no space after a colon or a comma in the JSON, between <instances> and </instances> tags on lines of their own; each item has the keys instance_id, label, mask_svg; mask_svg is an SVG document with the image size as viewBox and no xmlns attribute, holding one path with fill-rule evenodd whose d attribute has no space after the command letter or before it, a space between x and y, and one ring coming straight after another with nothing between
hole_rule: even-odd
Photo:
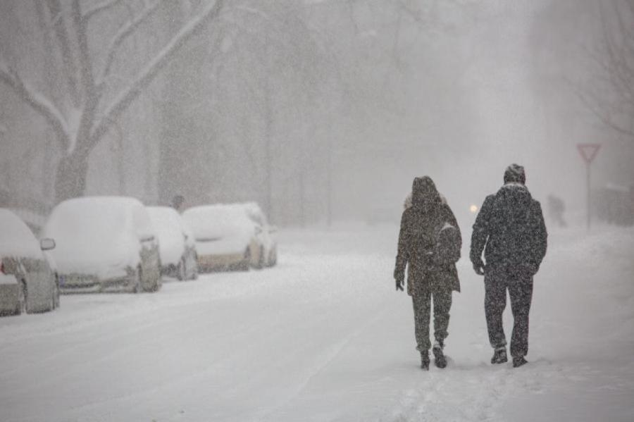
<instances>
[{"instance_id":1,"label":"foggy grey backdrop of bare trees and sky above cars and walkers","mask_svg":"<svg viewBox=\"0 0 634 422\"><path fill-rule=\"evenodd\" d=\"M256 200L396 221L430 175L463 227L526 167L583 215L634 182L634 2L6 0L0 205ZM35 217L34 217L35 218Z\"/></svg>"}]
</instances>

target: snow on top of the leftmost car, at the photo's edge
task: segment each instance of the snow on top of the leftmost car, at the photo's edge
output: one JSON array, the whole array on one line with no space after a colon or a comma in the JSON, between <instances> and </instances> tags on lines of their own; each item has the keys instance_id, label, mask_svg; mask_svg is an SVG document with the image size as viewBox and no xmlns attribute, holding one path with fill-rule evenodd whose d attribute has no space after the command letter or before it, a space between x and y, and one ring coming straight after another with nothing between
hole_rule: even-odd
<instances>
[{"instance_id":1,"label":"snow on top of the leftmost car, at the photo's edge","mask_svg":"<svg viewBox=\"0 0 634 422\"><path fill-rule=\"evenodd\" d=\"M0 209L0 257L15 256L42 259L35 235L15 213Z\"/></svg>"}]
</instances>

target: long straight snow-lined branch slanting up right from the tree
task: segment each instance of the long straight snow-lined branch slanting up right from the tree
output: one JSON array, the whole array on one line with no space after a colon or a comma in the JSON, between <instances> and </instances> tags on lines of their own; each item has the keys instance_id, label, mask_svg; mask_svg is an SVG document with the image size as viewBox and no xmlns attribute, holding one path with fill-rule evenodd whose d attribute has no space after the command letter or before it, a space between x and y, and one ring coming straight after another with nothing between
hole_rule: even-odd
<instances>
[{"instance_id":1,"label":"long straight snow-lined branch slanting up right from the tree","mask_svg":"<svg viewBox=\"0 0 634 422\"><path fill-rule=\"evenodd\" d=\"M93 147L94 144L99 142L99 139L103 137L108 131L108 126L111 122L118 120L118 118L128 109L137 97L147 88L147 86L154 80L156 75L169 63L174 54L194 35L203 30L204 25L209 21L218 18L220 11L223 9L224 0L213 1L204 8L201 13L190 20L182 29L176 34L170 42L163 47L161 51L149 62L149 64L142 70L139 75L132 81L127 88L121 92L113 103L106 108L104 116L99 119L99 122L94 125L94 130L90 135L89 147Z\"/></svg>"}]
</instances>

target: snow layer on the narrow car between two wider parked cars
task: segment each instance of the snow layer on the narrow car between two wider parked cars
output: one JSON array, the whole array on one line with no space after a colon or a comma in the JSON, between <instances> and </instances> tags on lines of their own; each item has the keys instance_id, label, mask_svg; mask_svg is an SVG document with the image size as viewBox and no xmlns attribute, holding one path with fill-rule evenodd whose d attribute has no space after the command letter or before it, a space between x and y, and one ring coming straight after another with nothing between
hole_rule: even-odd
<instances>
[{"instance_id":1,"label":"snow layer on the narrow car between two wider parked cars","mask_svg":"<svg viewBox=\"0 0 634 422\"><path fill-rule=\"evenodd\" d=\"M147 212L156 230L156 236L159 237L161 262L178 265L185 252L183 235L187 235L181 216L175 209L168 206L148 206Z\"/></svg>"}]
</instances>

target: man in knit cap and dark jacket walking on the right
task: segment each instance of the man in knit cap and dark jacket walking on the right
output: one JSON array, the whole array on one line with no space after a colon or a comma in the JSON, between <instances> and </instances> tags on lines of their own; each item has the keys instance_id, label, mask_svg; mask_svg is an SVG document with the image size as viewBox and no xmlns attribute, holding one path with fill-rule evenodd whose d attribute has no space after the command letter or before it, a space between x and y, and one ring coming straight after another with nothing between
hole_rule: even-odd
<instances>
[{"instance_id":1,"label":"man in knit cap and dark jacket walking on the right","mask_svg":"<svg viewBox=\"0 0 634 422\"><path fill-rule=\"evenodd\" d=\"M514 318L511 356L515 368L526 364L533 275L540 268L547 244L542 207L530 196L525 183L522 166L511 164L506 168L504 185L486 197L471 235L473 269L485 276L485 314L494 349L491 363L507 360L502 314L508 290Z\"/></svg>"}]
</instances>

